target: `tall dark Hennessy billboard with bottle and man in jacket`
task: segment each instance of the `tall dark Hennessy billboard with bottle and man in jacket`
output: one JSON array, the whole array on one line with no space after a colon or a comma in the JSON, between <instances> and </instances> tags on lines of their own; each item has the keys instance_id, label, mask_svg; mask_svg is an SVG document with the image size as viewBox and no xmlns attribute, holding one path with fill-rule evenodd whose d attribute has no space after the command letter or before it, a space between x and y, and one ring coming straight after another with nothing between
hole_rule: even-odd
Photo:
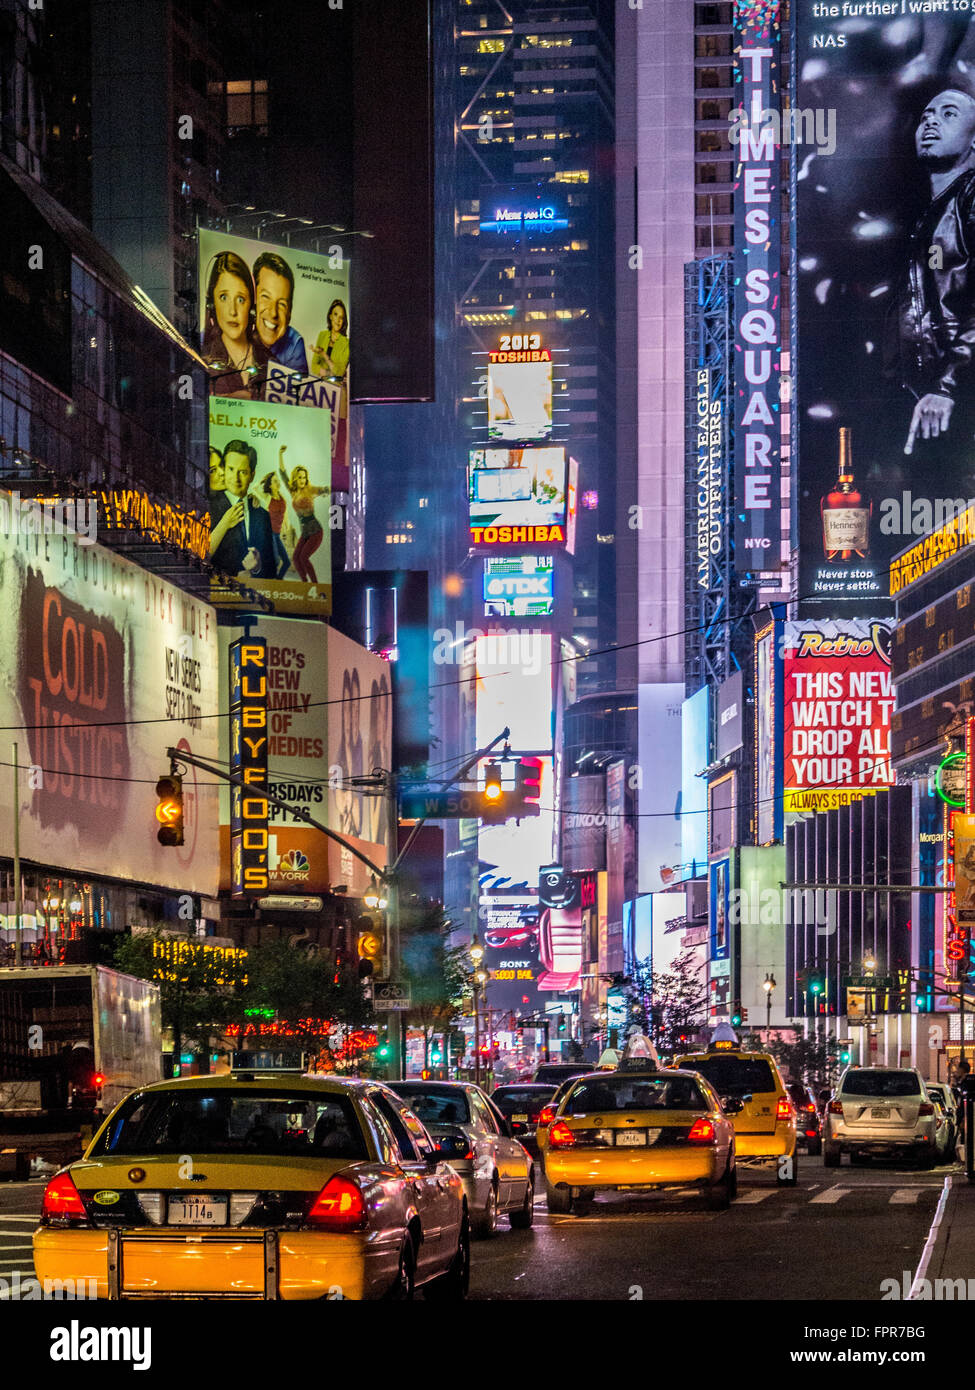
<instances>
[{"instance_id":1,"label":"tall dark Hennessy billboard with bottle and man in jacket","mask_svg":"<svg viewBox=\"0 0 975 1390\"><path fill-rule=\"evenodd\" d=\"M924 8L793 8L819 122L797 150L798 592L861 614L889 612L892 555L975 496L975 32L961 4Z\"/></svg>"}]
</instances>

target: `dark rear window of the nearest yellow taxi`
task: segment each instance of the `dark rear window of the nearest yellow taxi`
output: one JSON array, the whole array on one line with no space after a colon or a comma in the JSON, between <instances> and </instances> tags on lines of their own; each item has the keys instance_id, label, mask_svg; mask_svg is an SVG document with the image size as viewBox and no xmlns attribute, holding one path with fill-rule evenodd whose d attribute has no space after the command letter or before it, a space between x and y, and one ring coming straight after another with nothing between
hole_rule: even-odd
<instances>
[{"instance_id":1,"label":"dark rear window of the nearest yellow taxi","mask_svg":"<svg viewBox=\"0 0 975 1390\"><path fill-rule=\"evenodd\" d=\"M307 1091L147 1091L131 1095L93 1156L253 1154L266 1158L367 1158L352 1102Z\"/></svg>"}]
</instances>

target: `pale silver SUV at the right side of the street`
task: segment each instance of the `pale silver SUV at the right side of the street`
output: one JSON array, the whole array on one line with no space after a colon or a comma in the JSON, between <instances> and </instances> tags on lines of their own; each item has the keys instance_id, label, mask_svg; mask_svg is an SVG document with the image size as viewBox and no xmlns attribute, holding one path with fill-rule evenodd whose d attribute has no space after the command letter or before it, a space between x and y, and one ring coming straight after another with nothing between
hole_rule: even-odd
<instances>
[{"instance_id":1,"label":"pale silver SUV at the right side of the street","mask_svg":"<svg viewBox=\"0 0 975 1390\"><path fill-rule=\"evenodd\" d=\"M837 1168L873 1154L914 1154L926 1168L937 1159L937 1116L912 1066L850 1066L823 1116L822 1161Z\"/></svg>"}]
</instances>

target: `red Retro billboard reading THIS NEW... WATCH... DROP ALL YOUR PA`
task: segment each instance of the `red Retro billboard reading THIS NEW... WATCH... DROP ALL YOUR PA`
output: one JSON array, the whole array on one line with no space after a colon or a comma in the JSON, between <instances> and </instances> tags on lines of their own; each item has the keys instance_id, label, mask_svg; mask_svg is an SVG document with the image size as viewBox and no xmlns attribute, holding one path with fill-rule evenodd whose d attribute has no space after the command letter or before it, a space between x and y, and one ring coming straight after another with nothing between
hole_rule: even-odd
<instances>
[{"instance_id":1,"label":"red Retro billboard reading THIS NEW... WATCH... DROP ALL YOUR PA","mask_svg":"<svg viewBox=\"0 0 975 1390\"><path fill-rule=\"evenodd\" d=\"M784 810L830 810L892 785L890 631L876 619L786 623Z\"/></svg>"}]
</instances>

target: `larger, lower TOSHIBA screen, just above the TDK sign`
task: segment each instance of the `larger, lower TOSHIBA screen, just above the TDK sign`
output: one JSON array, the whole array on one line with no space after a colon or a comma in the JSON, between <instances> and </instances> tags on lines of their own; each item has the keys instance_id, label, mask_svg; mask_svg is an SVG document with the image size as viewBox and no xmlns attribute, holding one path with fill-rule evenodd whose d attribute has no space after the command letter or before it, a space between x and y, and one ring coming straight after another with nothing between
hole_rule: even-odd
<instances>
[{"instance_id":1,"label":"larger, lower TOSHIBA screen, just above the TDK sign","mask_svg":"<svg viewBox=\"0 0 975 1390\"><path fill-rule=\"evenodd\" d=\"M534 541L565 542L566 488L565 449L472 449L467 467L472 542L522 546Z\"/></svg>"}]
</instances>

